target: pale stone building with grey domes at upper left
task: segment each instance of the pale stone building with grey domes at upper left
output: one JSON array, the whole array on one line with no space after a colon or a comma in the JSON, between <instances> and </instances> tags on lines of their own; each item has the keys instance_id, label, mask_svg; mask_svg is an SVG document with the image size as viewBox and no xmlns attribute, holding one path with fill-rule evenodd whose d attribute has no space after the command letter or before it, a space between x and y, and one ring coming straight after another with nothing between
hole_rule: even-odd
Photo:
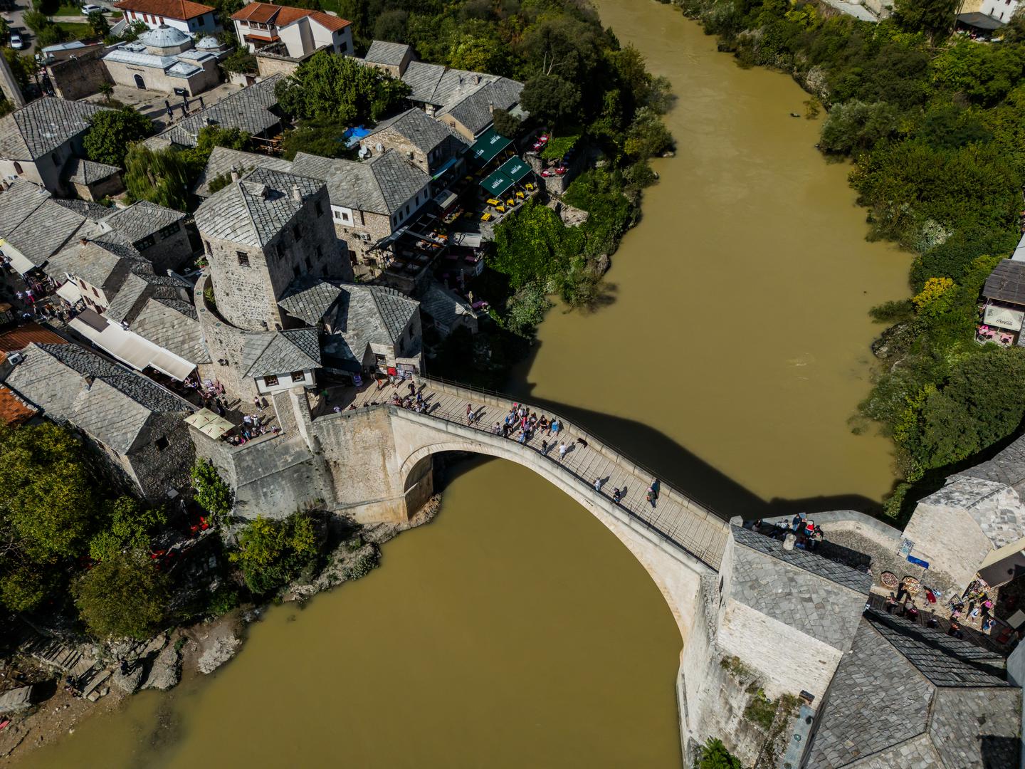
<instances>
[{"instance_id":1,"label":"pale stone building with grey domes at upper left","mask_svg":"<svg viewBox=\"0 0 1025 769\"><path fill-rule=\"evenodd\" d=\"M104 55L104 65L116 85L192 96L220 82L217 57L194 48L189 34L161 25L114 46Z\"/></svg>"}]
</instances>

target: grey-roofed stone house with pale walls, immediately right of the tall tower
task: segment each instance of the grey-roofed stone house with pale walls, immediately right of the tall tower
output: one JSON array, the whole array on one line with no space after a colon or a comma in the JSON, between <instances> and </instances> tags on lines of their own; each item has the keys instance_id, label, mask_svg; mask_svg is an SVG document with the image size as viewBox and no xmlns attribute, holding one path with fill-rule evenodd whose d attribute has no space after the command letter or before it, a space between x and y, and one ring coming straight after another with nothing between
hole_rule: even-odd
<instances>
[{"instance_id":1,"label":"grey-roofed stone house with pale walls, immediately right of the tall tower","mask_svg":"<svg viewBox=\"0 0 1025 769\"><path fill-rule=\"evenodd\" d=\"M365 163L300 152L292 170L326 183L335 231L357 256L409 221L430 199L430 177L394 150Z\"/></svg>"}]
</instances>

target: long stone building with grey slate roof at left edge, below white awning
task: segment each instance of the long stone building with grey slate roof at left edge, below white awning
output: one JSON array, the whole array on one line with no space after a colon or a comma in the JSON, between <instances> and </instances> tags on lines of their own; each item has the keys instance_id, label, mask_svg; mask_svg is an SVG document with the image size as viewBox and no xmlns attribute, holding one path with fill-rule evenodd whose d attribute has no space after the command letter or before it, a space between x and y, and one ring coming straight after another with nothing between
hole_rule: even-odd
<instances>
[{"instance_id":1,"label":"long stone building with grey slate roof at left edge, below white awning","mask_svg":"<svg viewBox=\"0 0 1025 769\"><path fill-rule=\"evenodd\" d=\"M192 406L154 381L77 345L31 343L6 385L80 430L116 475L149 499L187 483Z\"/></svg>"}]
</instances>

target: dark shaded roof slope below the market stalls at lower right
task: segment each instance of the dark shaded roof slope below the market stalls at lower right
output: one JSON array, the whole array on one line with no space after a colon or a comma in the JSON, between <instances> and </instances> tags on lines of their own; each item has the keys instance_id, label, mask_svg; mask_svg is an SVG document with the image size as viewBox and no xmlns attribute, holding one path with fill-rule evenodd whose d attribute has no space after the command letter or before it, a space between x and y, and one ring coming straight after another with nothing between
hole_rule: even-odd
<instances>
[{"instance_id":1,"label":"dark shaded roof slope below the market stalls at lower right","mask_svg":"<svg viewBox=\"0 0 1025 769\"><path fill-rule=\"evenodd\" d=\"M885 611L866 609L865 619L936 686L1010 686L995 652Z\"/></svg>"}]
</instances>

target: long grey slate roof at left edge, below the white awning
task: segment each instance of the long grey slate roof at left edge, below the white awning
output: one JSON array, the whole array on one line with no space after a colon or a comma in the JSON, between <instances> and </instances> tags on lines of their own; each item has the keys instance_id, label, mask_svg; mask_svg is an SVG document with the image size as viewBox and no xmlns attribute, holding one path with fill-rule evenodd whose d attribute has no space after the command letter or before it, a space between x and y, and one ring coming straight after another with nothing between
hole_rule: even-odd
<instances>
[{"instance_id":1,"label":"long grey slate roof at left edge, below the white awning","mask_svg":"<svg viewBox=\"0 0 1025 769\"><path fill-rule=\"evenodd\" d=\"M7 385L121 454L146 438L151 417L191 410L156 382L77 345L30 345Z\"/></svg>"}]
</instances>

